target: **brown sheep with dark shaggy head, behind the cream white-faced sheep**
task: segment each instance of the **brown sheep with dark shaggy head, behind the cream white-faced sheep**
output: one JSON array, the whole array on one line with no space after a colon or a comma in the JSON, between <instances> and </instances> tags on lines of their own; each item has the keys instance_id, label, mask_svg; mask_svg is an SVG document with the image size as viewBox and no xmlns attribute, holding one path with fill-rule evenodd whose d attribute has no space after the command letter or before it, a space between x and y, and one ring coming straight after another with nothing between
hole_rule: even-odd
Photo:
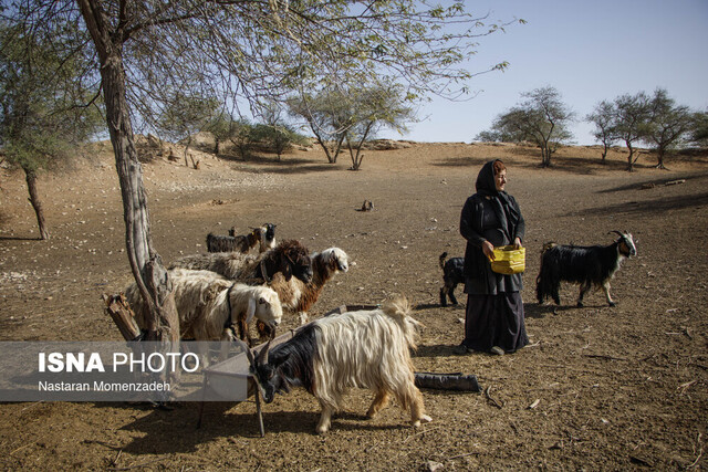
<instances>
[{"instance_id":1,"label":"brown sheep with dark shaggy head, behind the cream white-faced sheep","mask_svg":"<svg viewBox=\"0 0 708 472\"><path fill-rule=\"evenodd\" d=\"M176 268L211 271L251 285L270 282L278 272L288 281L293 276L305 283L312 279L312 260L308 249L296 240L283 241L257 256L238 252L186 255L169 266Z\"/></svg>"}]
</instances>

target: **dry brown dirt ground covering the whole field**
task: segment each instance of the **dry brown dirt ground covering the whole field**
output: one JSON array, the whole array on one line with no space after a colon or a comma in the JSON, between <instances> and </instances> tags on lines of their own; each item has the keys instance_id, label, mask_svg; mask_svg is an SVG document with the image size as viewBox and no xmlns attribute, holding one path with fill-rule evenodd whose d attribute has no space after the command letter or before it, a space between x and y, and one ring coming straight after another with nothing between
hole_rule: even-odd
<instances>
[{"instance_id":1,"label":"dry brown dirt ground covering the whole field","mask_svg":"<svg viewBox=\"0 0 708 472\"><path fill-rule=\"evenodd\" d=\"M153 237L164 261L205 252L208 232L278 224L279 240L310 250L339 247L354 265L315 304L316 317L341 304L379 303L403 293L425 325L417 370L475 374L483 392L424 390L433 422L408 426L395 405L364 415L371 394L354 390L325 436L304 391L264 406L260 438L253 401L164 411L143 405L0 405L0 469L92 470L683 470L706 468L708 421L708 159L626 154L601 165L595 147L563 148L555 166L511 145L407 144L367 151L362 170L347 156L326 164L319 150L275 161L217 159L195 151L200 169L158 157L144 165ZM205 148L206 149L206 148ZM111 146L93 149L63 175L44 175L51 239L37 240L23 176L0 169L0 339L121 340L101 295L132 282ZM465 199L482 164L508 166L508 191L527 221L523 300L531 344L513 355L456 356L466 296L441 307L438 256L461 256ZM685 180L678 185L668 181ZM364 200L374 211L356 211ZM546 241L607 244L628 230L638 254L602 292L576 308L535 302ZM285 319L294 326L295 319Z\"/></svg>"}]
</instances>

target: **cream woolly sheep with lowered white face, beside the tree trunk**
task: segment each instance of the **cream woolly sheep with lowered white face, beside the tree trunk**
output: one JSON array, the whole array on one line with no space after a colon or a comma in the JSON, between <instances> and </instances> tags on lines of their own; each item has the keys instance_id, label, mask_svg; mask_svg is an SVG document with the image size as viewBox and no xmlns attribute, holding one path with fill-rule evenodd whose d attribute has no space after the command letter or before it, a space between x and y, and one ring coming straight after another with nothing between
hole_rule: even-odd
<instances>
[{"instance_id":1,"label":"cream woolly sheep with lowered white face, beside the tree trunk","mask_svg":"<svg viewBox=\"0 0 708 472\"><path fill-rule=\"evenodd\" d=\"M248 327L253 318L273 328L282 319L280 298L272 289L235 283L210 271L173 269L168 275L185 339L233 340L238 328L238 338L251 344ZM125 296L144 329L147 311L135 283Z\"/></svg>"}]
</instances>

